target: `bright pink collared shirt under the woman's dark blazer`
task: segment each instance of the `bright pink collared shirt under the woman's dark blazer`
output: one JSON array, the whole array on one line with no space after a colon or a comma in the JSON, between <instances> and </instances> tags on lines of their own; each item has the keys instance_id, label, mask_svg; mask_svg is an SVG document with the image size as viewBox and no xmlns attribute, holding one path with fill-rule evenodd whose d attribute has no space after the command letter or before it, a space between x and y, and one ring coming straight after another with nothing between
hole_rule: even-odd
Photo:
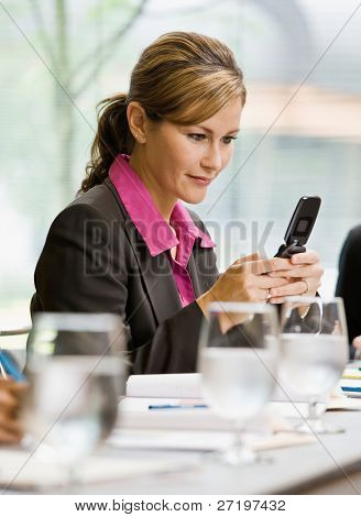
<instances>
[{"instance_id":1,"label":"bright pink collared shirt under the woman's dark blazer","mask_svg":"<svg viewBox=\"0 0 361 517\"><path fill-rule=\"evenodd\" d=\"M174 279L179 293L182 306L195 299L192 278L187 271L189 256L196 239L203 248L214 248L214 241L194 223L186 208L177 201L172 215L171 226L155 207L149 190L129 164L130 156L119 154L109 170L109 178L114 185L136 230L142 235L152 256L167 251ZM177 246L176 257L171 249Z\"/></svg>"}]
</instances>

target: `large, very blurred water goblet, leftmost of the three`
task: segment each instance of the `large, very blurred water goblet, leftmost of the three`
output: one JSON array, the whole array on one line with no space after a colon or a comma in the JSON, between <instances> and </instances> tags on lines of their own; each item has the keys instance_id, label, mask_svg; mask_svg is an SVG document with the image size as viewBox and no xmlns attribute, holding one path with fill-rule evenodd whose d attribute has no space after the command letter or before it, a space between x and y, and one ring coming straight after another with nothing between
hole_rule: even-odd
<instances>
[{"instance_id":1,"label":"large, very blurred water goblet, leftmost of the three","mask_svg":"<svg viewBox=\"0 0 361 517\"><path fill-rule=\"evenodd\" d=\"M28 346L25 430L40 460L75 466L108 437L124 393L122 321L108 314L39 314Z\"/></svg>"}]
</instances>

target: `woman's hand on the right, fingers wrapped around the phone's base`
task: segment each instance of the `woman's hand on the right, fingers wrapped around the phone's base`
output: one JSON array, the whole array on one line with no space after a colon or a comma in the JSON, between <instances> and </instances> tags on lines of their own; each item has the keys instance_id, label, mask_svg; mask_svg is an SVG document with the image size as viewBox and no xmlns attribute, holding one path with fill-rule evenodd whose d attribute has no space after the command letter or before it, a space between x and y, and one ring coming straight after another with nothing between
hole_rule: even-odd
<instances>
[{"instance_id":1,"label":"woman's hand on the right, fingers wrapped around the phone's base","mask_svg":"<svg viewBox=\"0 0 361 517\"><path fill-rule=\"evenodd\" d=\"M315 296L321 285L324 268L315 251L297 253L289 258L289 270L269 273L273 278L287 278L289 283L283 287L270 289L271 304L282 304L285 296Z\"/></svg>"}]
</instances>

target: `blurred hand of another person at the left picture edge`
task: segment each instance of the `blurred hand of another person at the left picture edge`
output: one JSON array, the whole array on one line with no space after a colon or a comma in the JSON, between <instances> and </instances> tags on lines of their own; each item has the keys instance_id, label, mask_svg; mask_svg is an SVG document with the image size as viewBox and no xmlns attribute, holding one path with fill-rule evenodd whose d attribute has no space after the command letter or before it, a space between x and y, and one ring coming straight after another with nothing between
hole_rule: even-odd
<instances>
[{"instance_id":1,"label":"blurred hand of another person at the left picture edge","mask_svg":"<svg viewBox=\"0 0 361 517\"><path fill-rule=\"evenodd\" d=\"M25 384L0 380L0 443L17 443L23 436L19 404L25 388Z\"/></svg>"}]
</instances>

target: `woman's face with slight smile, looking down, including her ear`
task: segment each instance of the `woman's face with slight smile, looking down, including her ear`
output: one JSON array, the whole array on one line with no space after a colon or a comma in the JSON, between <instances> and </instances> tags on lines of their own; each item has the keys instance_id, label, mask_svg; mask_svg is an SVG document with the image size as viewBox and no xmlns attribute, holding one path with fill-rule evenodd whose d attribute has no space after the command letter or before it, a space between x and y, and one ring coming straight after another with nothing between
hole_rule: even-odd
<instances>
[{"instance_id":1,"label":"woman's face with slight smile, looking down, including her ear","mask_svg":"<svg viewBox=\"0 0 361 517\"><path fill-rule=\"evenodd\" d=\"M239 98L199 124L151 123L142 146L142 168L153 193L162 193L169 202L200 202L230 161L241 111Z\"/></svg>"}]
</instances>

